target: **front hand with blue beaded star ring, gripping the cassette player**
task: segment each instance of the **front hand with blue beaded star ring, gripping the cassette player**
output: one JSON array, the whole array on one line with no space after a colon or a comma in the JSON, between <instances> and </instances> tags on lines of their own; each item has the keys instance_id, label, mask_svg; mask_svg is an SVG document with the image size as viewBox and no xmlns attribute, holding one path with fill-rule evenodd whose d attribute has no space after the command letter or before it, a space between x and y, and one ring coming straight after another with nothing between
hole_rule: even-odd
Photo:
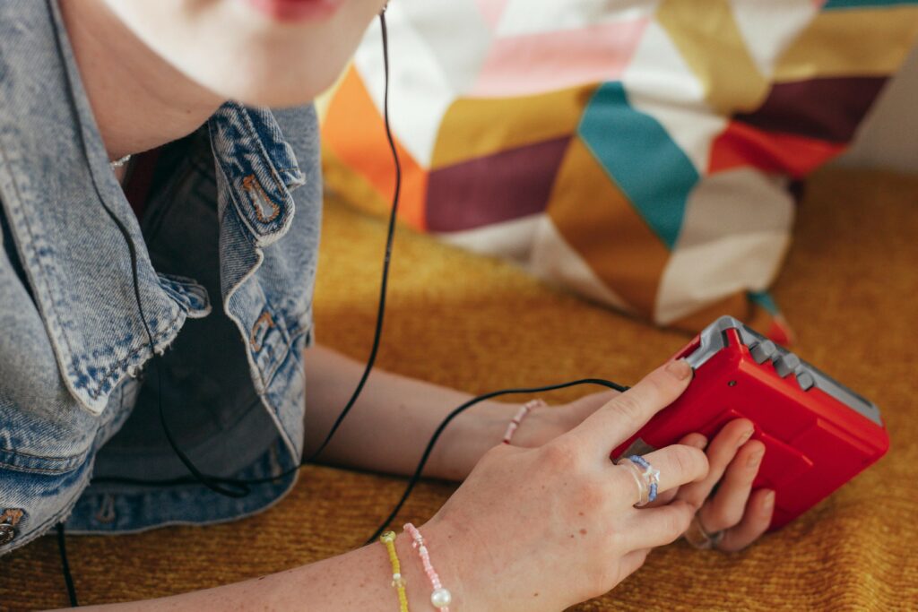
<instances>
[{"instance_id":1,"label":"front hand with blue beaded star ring, gripping the cassette player","mask_svg":"<svg viewBox=\"0 0 918 612\"><path fill-rule=\"evenodd\" d=\"M636 509L633 474L610 451L689 384L685 362L670 362L533 449L487 451L465 484L422 529L442 560L455 606L474 610L561 610L601 595L676 540L695 506L673 499ZM673 445L646 458L666 492L708 474L697 448ZM430 535L427 535L430 534ZM445 574L445 575L443 575Z\"/></svg>"}]
</instances>

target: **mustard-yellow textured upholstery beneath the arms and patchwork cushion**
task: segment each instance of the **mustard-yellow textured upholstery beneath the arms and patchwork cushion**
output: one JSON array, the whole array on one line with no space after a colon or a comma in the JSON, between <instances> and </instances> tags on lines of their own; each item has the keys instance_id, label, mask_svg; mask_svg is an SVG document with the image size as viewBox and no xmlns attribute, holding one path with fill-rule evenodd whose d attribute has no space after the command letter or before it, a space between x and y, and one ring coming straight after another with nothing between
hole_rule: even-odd
<instances>
[{"instance_id":1,"label":"mustard-yellow textured upholstery beneath the arms and patchwork cushion","mask_svg":"<svg viewBox=\"0 0 918 612\"><path fill-rule=\"evenodd\" d=\"M799 211L775 286L798 332L796 351L880 407L890 454L749 551L703 553L677 543L577 610L918 609L918 178L824 172ZM380 220L327 207L317 334L361 360L384 238ZM629 384L686 341L407 230L397 235L390 286L379 364L469 392L586 376ZM386 516L402 485L308 468L291 495L256 517L70 538L81 603L176 594L347 551ZM402 518L425 520L451 490L423 484ZM0 558L0 608L66 604L52 537Z\"/></svg>"}]
</instances>

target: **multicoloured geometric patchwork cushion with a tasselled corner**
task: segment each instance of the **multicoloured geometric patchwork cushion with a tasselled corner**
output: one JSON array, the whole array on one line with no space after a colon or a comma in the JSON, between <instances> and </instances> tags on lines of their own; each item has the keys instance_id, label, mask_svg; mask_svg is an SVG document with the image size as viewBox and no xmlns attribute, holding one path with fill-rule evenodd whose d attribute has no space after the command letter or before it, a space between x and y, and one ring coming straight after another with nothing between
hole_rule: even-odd
<instances>
[{"instance_id":1,"label":"multicoloured geometric patchwork cushion with a tasselled corner","mask_svg":"<svg viewBox=\"0 0 918 612\"><path fill-rule=\"evenodd\" d=\"M845 150L918 37L918 0L397 0L390 117L409 226L659 325L767 295L794 185ZM323 114L330 189L394 187L374 26Z\"/></svg>"}]
</instances>

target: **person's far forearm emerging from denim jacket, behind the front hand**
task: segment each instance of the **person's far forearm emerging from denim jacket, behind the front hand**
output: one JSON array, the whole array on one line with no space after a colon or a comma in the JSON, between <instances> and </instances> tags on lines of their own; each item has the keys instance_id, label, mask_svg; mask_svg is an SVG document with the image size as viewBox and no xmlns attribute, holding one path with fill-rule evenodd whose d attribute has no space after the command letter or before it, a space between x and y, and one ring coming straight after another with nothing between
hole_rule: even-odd
<instances>
[{"instance_id":1,"label":"person's far forearm emerging from denim jacket, behind the front hand","mask_svg":"<svg viewBox=\"0 0 918 612\"><path fill-rule=\"evenodd\" d=\"M305 361L308 455L319 447L351 398L364 364L321 346L306 351ZM413 473L443 418L470 398L437 384L375 369L320 460L378 472ZM424 473L465 478L477 458L501 440L514 410L509 404L482 402L453 419Z\"/></svg>"}]
</instances>

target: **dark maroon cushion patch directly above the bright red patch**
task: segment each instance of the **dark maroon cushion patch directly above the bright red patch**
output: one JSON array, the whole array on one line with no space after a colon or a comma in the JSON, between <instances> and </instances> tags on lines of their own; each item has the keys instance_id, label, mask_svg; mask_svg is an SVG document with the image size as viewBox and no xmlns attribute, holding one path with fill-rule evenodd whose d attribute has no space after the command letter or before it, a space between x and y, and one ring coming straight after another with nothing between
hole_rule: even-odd
<instances>
[{"instance_id":1,"label":"dark maroon cushion patch directly above the bright red patch","mask_svg":"<svg viewBox=\"0 0 918 612\"><path fill-rule=\"evenodd\" d=\"M755 112L734 118L769 132L848 142L886 81L863 76L776 83Z\"/></svg>"}]
</instances>

